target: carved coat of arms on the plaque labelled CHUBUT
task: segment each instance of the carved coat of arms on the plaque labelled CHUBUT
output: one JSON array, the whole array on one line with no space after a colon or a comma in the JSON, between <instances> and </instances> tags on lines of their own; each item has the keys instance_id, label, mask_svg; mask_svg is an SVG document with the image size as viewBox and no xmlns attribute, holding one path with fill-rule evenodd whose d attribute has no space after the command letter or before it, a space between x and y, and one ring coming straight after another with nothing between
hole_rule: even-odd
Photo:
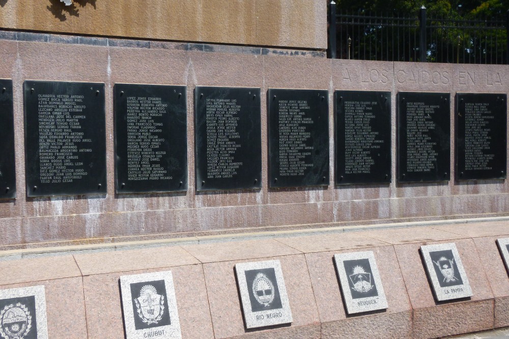
<instances>
[{"instance_id":1,"label":"carved coat of arms on the plaque labelled CHUBUT","mask_svg":"<svg viewBox=\"0 0 509 339\"><path fill-rule=\"evenodd\" d=\"M164 314L164 296L157 293L152 285L145 285L139 290L139 297L134 299L139 318L148 325L157 324Z\"/></svg>"}]
</instances>

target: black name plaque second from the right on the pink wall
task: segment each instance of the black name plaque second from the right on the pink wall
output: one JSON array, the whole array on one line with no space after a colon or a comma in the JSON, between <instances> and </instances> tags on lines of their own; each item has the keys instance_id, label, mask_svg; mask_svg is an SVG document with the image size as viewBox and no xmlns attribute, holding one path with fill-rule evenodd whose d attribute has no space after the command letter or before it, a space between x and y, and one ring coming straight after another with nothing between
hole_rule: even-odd
<instances>
[{"instance_id":1,"label":"black name plaque second from the right on the pink wall","mask_svg":"<svg viewBox=\"0 0 509 339\"><path fill-rule=\"evenodd\" d=\"M450 179L450 94L398 93L398 181Z\"/></svg>"}]
</instances>

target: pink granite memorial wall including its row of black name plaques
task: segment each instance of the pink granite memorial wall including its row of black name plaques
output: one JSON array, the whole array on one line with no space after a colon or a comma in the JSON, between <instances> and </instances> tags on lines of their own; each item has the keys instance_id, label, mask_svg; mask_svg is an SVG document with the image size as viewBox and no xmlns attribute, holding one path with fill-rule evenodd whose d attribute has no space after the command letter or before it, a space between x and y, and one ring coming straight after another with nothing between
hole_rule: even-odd
<instances>
[{"instance_id":1,"label":"pink granite memorial wall including its row of black name plaques","mask_svg":"<svg viewBox=\"0 0 509 339\"><path fill-rule=\"evenodd\" d=\"M0 47L3 249L509 214L503 66L32 37Z\"/></svg>"}]
</instances>

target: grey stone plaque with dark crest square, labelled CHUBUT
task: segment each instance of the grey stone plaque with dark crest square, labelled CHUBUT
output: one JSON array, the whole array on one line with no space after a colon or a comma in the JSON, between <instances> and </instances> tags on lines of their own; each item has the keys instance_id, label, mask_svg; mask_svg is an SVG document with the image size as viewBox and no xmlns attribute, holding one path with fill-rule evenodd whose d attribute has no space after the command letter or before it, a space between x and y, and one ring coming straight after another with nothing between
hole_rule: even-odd
<instances>
[{"instance_id":1,"label":"grey stone plaque with dark crest square, labelled CHUBUT","mask_svg":"<svg viewBox=\"0 0 509 339\"><path fill-rule=\"evenodd\" d=\"M126 339L182 338L171 271L122 275Z\"/></svg>"}]
</instances>

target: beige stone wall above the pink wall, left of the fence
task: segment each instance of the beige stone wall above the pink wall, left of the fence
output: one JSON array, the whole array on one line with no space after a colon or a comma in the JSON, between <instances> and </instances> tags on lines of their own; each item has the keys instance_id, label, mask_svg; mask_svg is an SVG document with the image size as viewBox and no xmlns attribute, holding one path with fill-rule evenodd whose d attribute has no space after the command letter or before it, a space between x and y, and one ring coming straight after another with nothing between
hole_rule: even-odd
<instances>
[{"instance_id":1,"label":"beige stone wall above the pink wall, left of the fence","mask_svg":"<svg viewBox=\"0 0 509 339\"><path fill-rule=\"evenodd\" d=\"M3 5L2 5L3 4ZM0 27L258 46L327 48L324 0L2 0Z\"/></svg>"}]
</instances>

